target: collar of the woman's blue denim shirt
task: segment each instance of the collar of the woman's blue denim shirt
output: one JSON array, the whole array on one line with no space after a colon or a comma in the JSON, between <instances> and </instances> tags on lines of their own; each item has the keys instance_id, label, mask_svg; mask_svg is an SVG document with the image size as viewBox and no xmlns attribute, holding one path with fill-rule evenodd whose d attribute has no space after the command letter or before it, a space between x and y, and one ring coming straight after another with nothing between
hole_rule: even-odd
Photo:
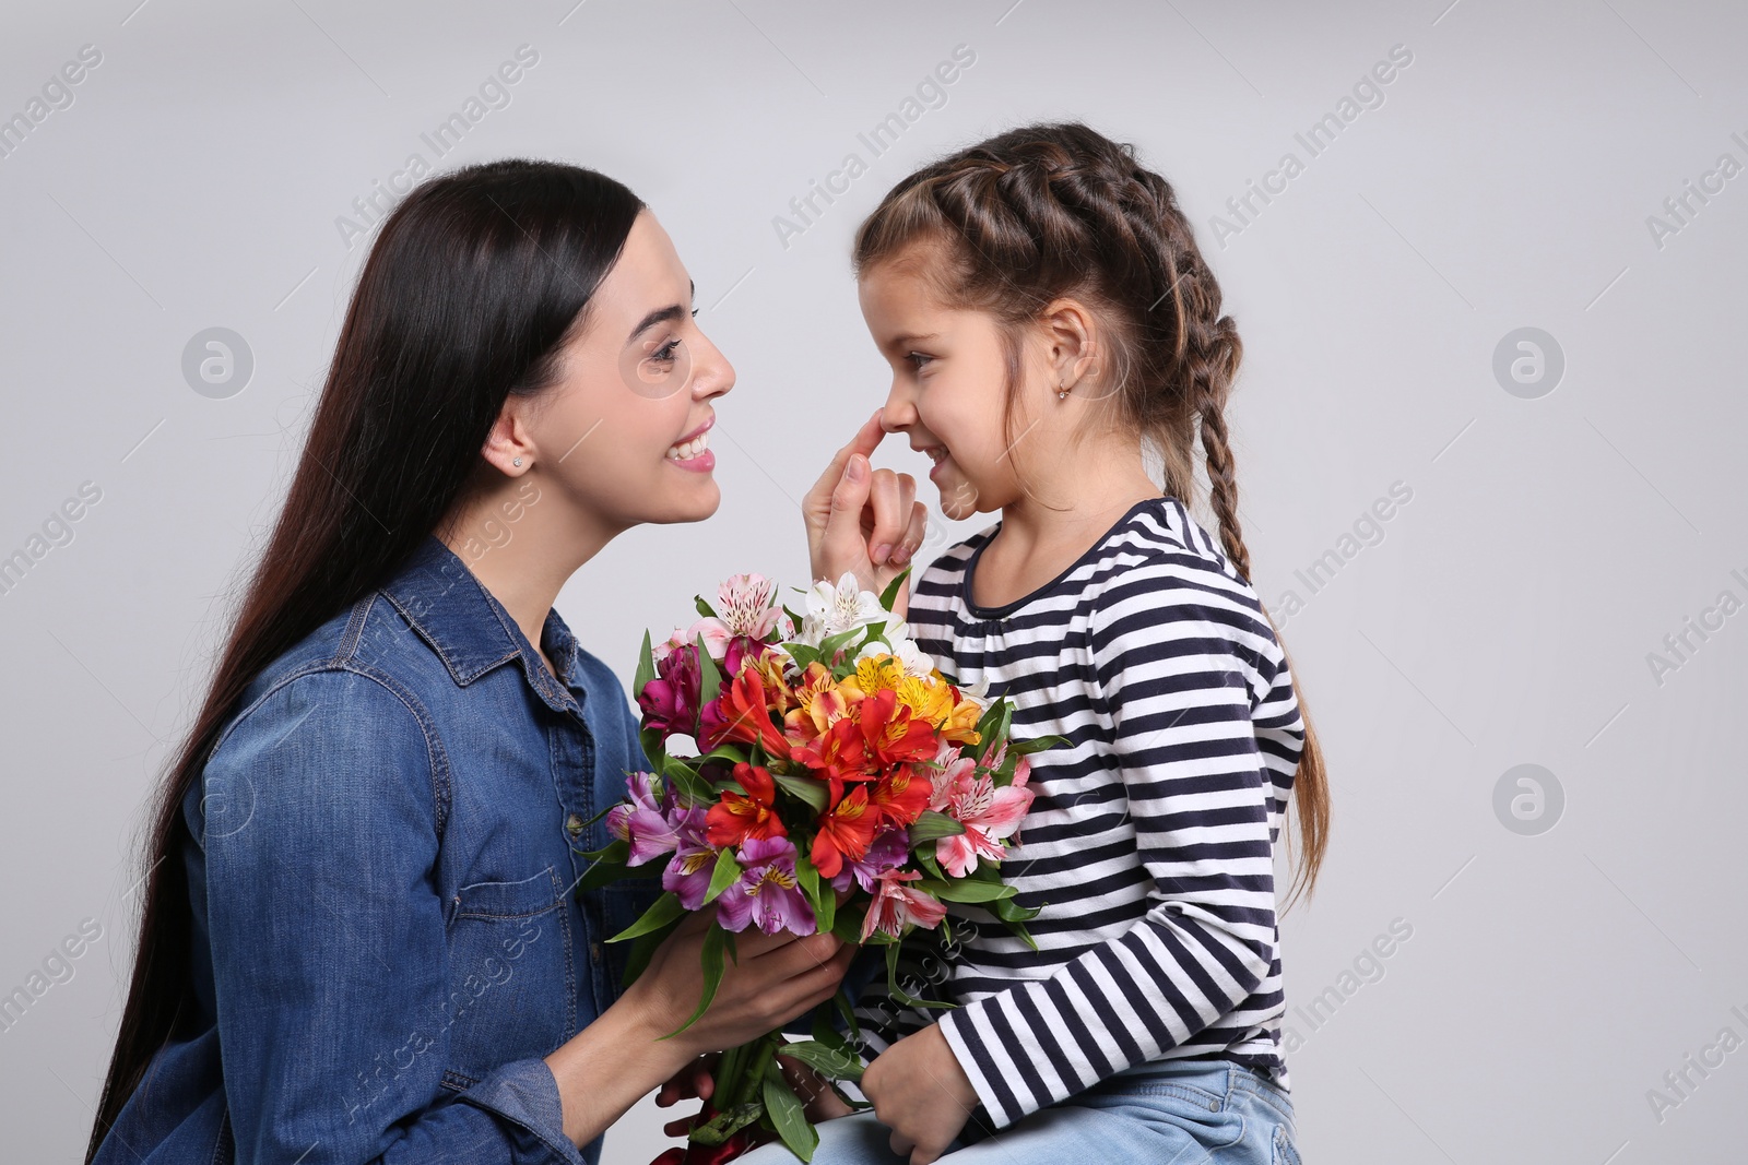
<instances>
[{"instance_id":1,"label":"collar of the woman's blue denim shirt","mask_svg":"<svg viewBox=\"0 0 1748 1165\"><path fill-rule=\"evenodd\" d=\"M540 638L558 667L558 683L503 604L435 534L381 587L383 596L420 632L458 686L521 662L523 674L547 707L580 713L586 690L577 671L577 639L556 610Z\"/></svg>"}]
</instances>

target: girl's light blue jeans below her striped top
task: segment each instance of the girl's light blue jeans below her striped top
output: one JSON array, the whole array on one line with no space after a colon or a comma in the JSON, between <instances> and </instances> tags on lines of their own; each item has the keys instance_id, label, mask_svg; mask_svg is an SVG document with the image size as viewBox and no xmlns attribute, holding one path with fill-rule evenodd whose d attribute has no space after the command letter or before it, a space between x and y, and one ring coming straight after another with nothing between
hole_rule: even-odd
<instances>
[{"instance_id":1,"label":"girl's light blue jeans below her striped top","mask_svg":"<svg viewBox=\"0 0 1748 1165\"><path fill-rule=\"evenodd\" d=\"M909 1165L872 1109L822 1123L813 1165ZM794 1165L781 1142L736 1165ZM1154 1060L1038 1109L1007 1128L968 1123L940 1162L951 1165L1299 1165L1294 1104L1229 1060Z\"/></svg>"}]
</instances>

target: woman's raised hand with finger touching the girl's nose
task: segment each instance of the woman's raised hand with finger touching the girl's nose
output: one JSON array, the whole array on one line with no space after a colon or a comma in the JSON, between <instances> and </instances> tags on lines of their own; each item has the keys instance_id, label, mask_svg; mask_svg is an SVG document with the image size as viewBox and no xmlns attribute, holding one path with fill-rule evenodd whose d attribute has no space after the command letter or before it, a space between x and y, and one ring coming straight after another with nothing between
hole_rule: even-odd
<instances>
[{"instance_id":1,"label":"woman's raised hand with finger touching the girl's nose","mask_svg":"<svg viewBox=\"0 0 1748 1165\"><path fill-rule=\"evenodd\" d=\"M916 500L916 479L869 465L884 437L876 410L801 500L815 578L836 582L848 571L881 594L923 545L928 507ZM900 618L909 608L904 589L893 608Z\"/></svg>"}]
</instances>

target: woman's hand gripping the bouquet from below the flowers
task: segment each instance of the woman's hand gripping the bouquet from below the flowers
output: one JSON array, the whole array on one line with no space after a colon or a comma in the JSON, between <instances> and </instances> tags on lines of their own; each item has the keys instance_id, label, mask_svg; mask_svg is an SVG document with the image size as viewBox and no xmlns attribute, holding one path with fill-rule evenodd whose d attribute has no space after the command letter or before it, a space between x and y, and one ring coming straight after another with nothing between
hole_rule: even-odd
<instances>
[{"instance_id":1,"label":"woman's hand gripping the bouquet from below the flowers","mask_svg":"<svg viewBox=\"0 0 1748 1165\"><path fill-rule=\"evenodd\" d=\"M704 931L715 917L713 905L685 915L621 997L654 1036L666 1036L697 1010L704 994ZM724 959L722 982L704 1015L664 1041L687 1060L757 1039L825 1003L857 952L836 934L797 938L757 927L736 934L734 948L738 959Z\"/></svg>"}]
</instances>

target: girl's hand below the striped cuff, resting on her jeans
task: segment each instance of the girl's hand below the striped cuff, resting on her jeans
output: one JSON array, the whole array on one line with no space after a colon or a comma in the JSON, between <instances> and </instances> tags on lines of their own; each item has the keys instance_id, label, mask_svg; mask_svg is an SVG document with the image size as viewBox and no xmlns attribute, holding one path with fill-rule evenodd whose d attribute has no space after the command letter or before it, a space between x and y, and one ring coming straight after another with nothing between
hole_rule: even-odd
<instances>
[{"instance_id":1,"label":"girl's hand below the striped cuff, resting on her jeans","mask_svg":"<svg viewBox=\"0 0 1748 1165\"><path fill-rule=\"evenodd\" d=\"M977 1107L977 1090L939 1024L874 1057L862 1072L862 1093L874 1102L879 1123L891 1128L891 1151L909 1153L911 1165L937 1160Z\"/></svg>"}]
</instances>

